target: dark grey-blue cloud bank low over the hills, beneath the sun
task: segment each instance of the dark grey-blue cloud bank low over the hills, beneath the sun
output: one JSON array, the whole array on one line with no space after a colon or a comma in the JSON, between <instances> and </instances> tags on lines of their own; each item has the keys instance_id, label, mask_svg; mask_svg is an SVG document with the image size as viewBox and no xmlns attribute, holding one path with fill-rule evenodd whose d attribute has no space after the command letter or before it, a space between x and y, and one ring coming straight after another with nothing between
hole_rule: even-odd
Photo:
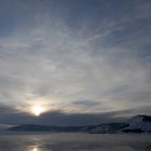
<instances>
[{"instance_id":1,"label":"dark grey-blue cloud bank low over the hills, beneath the sun","mask_svg":"<svg viewBox=\"0 0 151 151\"><path fill-rule=\"evenodd\" d=\"M146 111L146 112L145 112ZM17 124L47 124L47 125L93 125L109 122L123 122L140 112L150 114L150 106L131 108L127 110L101 112L101 113L67 113L61 110L47 111L39 118L30 113L22 112L9 106L0 108L0 123L3 126Z\"/></svg>"}]
</instances>

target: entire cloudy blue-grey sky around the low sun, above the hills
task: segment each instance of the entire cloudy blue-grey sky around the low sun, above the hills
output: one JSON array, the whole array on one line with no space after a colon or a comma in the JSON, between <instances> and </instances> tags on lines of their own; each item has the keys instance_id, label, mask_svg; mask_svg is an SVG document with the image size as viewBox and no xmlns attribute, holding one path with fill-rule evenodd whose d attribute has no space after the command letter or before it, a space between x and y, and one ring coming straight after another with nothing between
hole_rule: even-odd
<instances>
[{"instance_id":1,"label":"entire cloudy blue-grey sky around the low sun, above the hills","mask_svg":"<svg viewBox=\"0 0 151 151\"><path fill-rule=\"evenodd\" d=\"M150 109L150 0L0 0L0 124L98 124Z\"/></svg>"}]
</instances>

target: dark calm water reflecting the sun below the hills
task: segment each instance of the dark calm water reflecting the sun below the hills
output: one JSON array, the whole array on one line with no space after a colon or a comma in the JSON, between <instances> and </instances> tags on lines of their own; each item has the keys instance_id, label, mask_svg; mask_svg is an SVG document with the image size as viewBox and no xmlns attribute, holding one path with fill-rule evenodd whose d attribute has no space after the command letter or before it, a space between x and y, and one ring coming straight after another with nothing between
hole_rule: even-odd
<instances>
[{"instance_id":1,"label":"dark calm water reflecting the sun below the hills","mask_svg":"<svg viewBox=\"0 0 151 151\"><path fill-rule=\"evenodd\" d=\"M151 135L0 135L0 151L151 151Z\"/></svg>"}]
</instances>

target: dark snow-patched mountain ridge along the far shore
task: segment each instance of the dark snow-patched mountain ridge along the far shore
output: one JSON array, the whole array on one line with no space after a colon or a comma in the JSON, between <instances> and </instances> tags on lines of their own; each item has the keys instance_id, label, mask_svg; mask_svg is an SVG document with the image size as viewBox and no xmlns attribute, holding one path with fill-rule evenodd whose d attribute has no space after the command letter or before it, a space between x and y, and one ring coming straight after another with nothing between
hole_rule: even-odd
<instances>
[{"instance_id":1,"label":"dark snow-patched mountain ridge along the far shore","mask_svg":"<svg viewBox=\"0 0 151 151\"><path fill-rule=\"evenodd\" d=\"M50 126L50 125L19 125L9 128L13 132L83 132L95 134L112 133L151 133L151 116L137 115L124 123L106 123L93 126Z\"/></svg>"}]
</instances>

